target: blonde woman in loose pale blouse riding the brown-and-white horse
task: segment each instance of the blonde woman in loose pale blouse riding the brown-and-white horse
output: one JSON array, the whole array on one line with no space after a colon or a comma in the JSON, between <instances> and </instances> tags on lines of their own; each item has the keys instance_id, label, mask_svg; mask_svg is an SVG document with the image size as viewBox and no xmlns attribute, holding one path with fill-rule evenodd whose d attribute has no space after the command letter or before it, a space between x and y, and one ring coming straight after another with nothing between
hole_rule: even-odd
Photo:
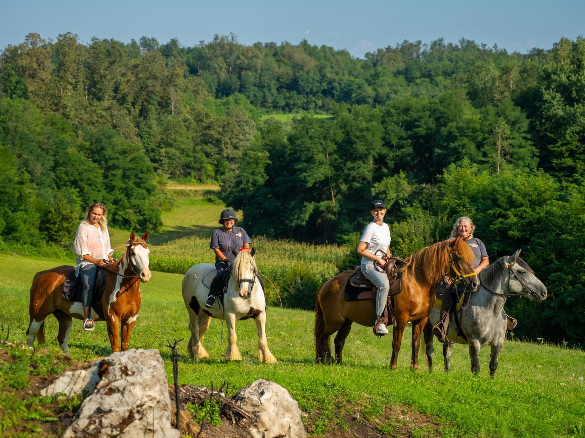
<instances>
[{"instance_id":1,"label":"blonde woman in loose pale blouse riding the brown-and-white horse","mask_svg":"<svg viewBox=\"0 0 585 438\"><path fill-rule=\"evenodd\" d=\"M96 266L106 266L115 262L108 233L108 209L101 202L94 202L85 210L85 219L77 227L73 251L77 255L75 275L81 276L83 290L83 329L94 331L94 321L90 317L92 293L94 292Z\"/></svg>"}]
</instances>

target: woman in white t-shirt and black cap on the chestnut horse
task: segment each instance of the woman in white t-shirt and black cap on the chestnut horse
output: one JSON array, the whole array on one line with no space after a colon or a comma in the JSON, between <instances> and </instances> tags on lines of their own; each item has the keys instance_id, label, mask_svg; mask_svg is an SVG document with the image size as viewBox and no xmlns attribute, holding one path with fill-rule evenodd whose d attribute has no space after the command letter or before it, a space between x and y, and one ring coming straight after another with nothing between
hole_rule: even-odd
<instances>
[{"instance_id":1,"label":"woman in white t-shirt and black cap on the chestnut horse","mask_svg":"<svg viewBox=\"0 0 585 438\"><path fill-rule=\"evenodd\" d=\"M376 293L376 324L374 324L374 334L384 336L388 334L388 329L384 324L378 325L378 321L384 313L386 301L388 300L388 276L384 269L386 260L377 255L380 251L390 256L390 228L384 223L386 215L386 206L383 201L376 199L371 202L370 213L374 218L364 228L360 243L357 245L357 253L362 256L362 272L378 288ZM380 251L378 251L380 250ZM376 326L378 326L376 333Z\"/></svg>"}]
</instances>

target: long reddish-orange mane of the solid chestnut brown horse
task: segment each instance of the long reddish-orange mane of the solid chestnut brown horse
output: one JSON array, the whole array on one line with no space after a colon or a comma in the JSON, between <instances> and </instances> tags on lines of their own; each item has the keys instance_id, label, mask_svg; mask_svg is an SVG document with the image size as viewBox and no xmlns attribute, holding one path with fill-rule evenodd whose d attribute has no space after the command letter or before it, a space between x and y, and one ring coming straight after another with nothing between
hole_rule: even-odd
<instances>
[{"instance_id":1,"label":"long reddish-orange mane of the solid chestnut brown horse","mask_svg":"<svg viewBox=\"0 0 585 438\"><path fill-rule=\"evenodd\" d=\"M453 239L447 239L422 248L421 251L406 258L406 264L402 267L402 272L408 272L410 268L420 268L426 284L441 283L445 278L445 273L449 272L450 245L452 243ZM459 239L457 250L463 260L473 266L475 258L469 245Z\"/></svg>"}]
</instances>

